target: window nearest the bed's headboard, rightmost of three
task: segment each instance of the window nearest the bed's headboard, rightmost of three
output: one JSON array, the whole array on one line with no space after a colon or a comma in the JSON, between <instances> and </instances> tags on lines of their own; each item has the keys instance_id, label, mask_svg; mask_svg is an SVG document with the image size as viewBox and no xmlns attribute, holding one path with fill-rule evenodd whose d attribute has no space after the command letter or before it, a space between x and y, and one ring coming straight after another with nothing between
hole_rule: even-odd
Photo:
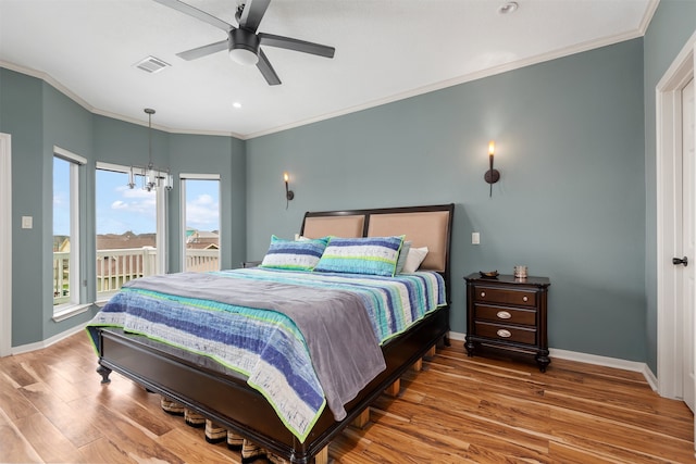
<instances>
[{"instance_id":1,"label":"window nearest the bed's headboard, rightmost of three","mask_svg":"<svg viewBox=\"0 0 696 464\"><path fill-rule=\"evenodd\" d=\"M220 175L182 174L183 271L220 271Z\"/></svg>"}]
</instances>

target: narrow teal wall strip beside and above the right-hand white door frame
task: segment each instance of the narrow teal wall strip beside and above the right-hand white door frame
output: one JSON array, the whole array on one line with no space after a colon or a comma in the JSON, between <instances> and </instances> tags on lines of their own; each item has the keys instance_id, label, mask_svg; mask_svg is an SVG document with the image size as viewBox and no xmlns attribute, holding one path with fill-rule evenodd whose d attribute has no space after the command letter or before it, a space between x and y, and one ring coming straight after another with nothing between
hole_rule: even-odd
<instances>
[{"instance_id":1,"label":"narrow teal wall strip beside and above the right-hand white door frame","mask_svg":"<svg viewBox=\"0 0 696 464\"><path fill-rule=\"evenodd\" d=\"M646 362L657 374L657 173L655 88L696 33L696 2L662 0L644 37Z\"/></svg>"}]
</instances>

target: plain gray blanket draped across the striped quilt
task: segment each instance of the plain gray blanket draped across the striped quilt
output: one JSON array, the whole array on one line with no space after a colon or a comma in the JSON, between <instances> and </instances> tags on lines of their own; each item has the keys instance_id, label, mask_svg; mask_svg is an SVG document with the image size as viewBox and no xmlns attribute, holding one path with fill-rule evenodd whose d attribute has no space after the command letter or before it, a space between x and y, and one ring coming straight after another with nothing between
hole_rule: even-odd
<instances>
[{"instance_id":1,"label":"plain gray blanket draped across the striped quilt","mask_svg":"<svg viewBox=\"0 0 696 464\"><path fill-rule=\"evenodd\" d=\"M198 273L149 276L124 287L287 315L307 341L326 403L336 421L346 416L344 405L386 368L368 312L361 299L349 291Z\"/></svg>"}]
</instances>

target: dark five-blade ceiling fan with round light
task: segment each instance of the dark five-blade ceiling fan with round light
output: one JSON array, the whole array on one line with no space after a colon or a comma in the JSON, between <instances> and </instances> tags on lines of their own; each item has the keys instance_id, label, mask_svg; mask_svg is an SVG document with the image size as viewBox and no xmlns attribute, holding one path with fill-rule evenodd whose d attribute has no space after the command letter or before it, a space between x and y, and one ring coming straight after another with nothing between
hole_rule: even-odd
<instances>
[{"instance_id":1,"label":"dark five-blade ceiling fan with round light","mask_svg":"<svg viewBox=\"0 0 696 464\"><path fill-rule=\"evenodd\" d=\"M227 50L229 58L232 58L233 61L246 65L256 64L271 86L277 86L281 84L281 79L275 73L275 70L273 70L273 66L271 66L271 62L269 62L265 53L261 50L261 46L284 48L287 50L301 51L302 53L316 54L319 57L326 58L334 58L334 52L336 51L334 47L298 40L291 37L258 33L259 24L261 23L271 0L246 0L245 4L239 5L235 13L239 27L227 24L224 21L184 3L181 0L154 1L184 14L188 14L197 20L203 21L227 33L227 39L225 40L176 53L177 57L190 61L222 50Z\"/></svg>"}]
</instances>

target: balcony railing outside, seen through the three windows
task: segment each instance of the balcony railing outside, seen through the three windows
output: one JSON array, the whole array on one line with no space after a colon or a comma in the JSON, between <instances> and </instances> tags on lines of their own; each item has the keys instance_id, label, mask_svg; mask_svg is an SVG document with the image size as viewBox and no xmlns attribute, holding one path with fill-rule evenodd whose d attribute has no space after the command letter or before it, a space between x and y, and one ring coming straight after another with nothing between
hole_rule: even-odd
<instances>
[{"instance_id":1,"label":"balcony railing outside, seen through the three windows","mask_svg":"<svg viewBox=\"0 0 696 464\"><path fill-rule=\"evenodd\" d=\"M186 269L220 269L219 250L186 250ZM105 301L128 280L157 272L157 249L152 247L97 250L97 301ZM70 301L70 252L53 252L53 304Z\"/></svg>"}]
</instances>

